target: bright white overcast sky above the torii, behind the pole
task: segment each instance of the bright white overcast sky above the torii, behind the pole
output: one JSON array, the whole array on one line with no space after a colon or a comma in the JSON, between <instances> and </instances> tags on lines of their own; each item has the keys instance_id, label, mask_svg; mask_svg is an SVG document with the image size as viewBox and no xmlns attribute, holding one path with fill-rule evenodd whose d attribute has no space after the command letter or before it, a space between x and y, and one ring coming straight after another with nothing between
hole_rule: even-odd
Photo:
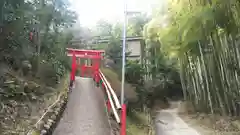
<instances>
[{"instance_id":1,"label":"bright white overcast sky above the torii, behind the pole","mask_svg":"<svg viewBox=\"0 0 240 135\"><path fill-rule=\"evenodd\" d=\"M123 17L123 0L70 0L79 15L80 24L93 26L99 19L110 22ZM163 0L127 0L128 11L151 12L152 6Z\"/></svg>"}]
</instances>

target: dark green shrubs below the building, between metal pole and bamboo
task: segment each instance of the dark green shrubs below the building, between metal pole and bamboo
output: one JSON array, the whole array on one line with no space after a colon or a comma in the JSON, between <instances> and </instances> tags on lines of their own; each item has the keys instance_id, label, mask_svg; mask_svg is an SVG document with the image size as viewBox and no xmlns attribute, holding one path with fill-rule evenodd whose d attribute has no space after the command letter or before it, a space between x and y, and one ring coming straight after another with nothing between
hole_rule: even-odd
<instances>
[{"instance_id":1,"label":"dark green shrubs below the building, between metal pole and bamboo","mask_svg":"<svg viewBox=\"0 0 240 135\"><path fill-rule=\"evenodd\" d=\"M144 80L146 70L138 61L128 61L126 65L126 81L136 88L138 103L152 107L156 100L182 97L182 88L178 70L174 60L167 60L158 54L158 61L151 66L151 80ZM170 62L169 62L170 61Z\"/></svg>"}]
</instances>

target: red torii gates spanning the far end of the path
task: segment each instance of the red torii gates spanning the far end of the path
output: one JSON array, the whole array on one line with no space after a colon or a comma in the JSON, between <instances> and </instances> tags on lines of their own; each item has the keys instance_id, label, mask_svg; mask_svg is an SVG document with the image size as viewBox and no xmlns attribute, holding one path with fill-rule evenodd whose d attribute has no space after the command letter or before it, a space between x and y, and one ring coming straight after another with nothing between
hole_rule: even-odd
<instances>
[{"instance_id":1,"label":"red torii gates spanning the far end of the path","mask_svg":"<svg viewBox=\"0 0 240 135\"><path fill-rule=\"evenodd\" d=\"M99 77L99 68L100 68L100 63L101 60L103 59L102 54L104 53L103 50L83 50L83 49L72 49L72 48L67 48L67 56L72 57L72 71L71 71L71 86L73 82L75 81L75 74L78 66L80 67L80 75L85 76L86 71L90 70L92 73L92 77L95 79L95 81L98 83L100 81ZM91 59L92 64L91 66L87 66L85 63L77 63L77 58L87 58Z\"/></svg>"}]
</instances>

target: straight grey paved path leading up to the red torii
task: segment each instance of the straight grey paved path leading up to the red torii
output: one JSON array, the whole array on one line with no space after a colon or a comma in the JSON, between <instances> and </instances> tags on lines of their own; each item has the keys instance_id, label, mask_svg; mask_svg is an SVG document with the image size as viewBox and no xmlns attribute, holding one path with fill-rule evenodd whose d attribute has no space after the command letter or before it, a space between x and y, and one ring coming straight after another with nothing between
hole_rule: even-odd
<instances>
[{"instance_id":1,"label":"straight grey paved path leading up to the red torii","mask_svg":"<svg viewBox=\"0 0 240 135\"><path fill-rule=\"evenodd\" d=\"M67 107L53 135L111 135L104 96L90 78L76 78Z\"/></svg>"}]
</instances>

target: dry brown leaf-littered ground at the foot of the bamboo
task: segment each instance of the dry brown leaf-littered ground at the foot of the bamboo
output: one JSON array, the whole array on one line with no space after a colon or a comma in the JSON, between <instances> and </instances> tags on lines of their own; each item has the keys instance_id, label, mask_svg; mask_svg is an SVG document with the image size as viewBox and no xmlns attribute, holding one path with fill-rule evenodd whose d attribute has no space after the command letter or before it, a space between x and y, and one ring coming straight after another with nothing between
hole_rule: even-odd
<instances>
[{"instance_id":1,"label":"dry brown leaf-littered ground at the foot of the bamboo","mask_svg":"<svg viewBox=\"0 0 240 135\"><path fill-rule=\"evenodd\" d=\"M240 121L233 117L194 113L190 103L179 106L179 115L201 135L240 135Z\"/></svg>"}]
</instances>

